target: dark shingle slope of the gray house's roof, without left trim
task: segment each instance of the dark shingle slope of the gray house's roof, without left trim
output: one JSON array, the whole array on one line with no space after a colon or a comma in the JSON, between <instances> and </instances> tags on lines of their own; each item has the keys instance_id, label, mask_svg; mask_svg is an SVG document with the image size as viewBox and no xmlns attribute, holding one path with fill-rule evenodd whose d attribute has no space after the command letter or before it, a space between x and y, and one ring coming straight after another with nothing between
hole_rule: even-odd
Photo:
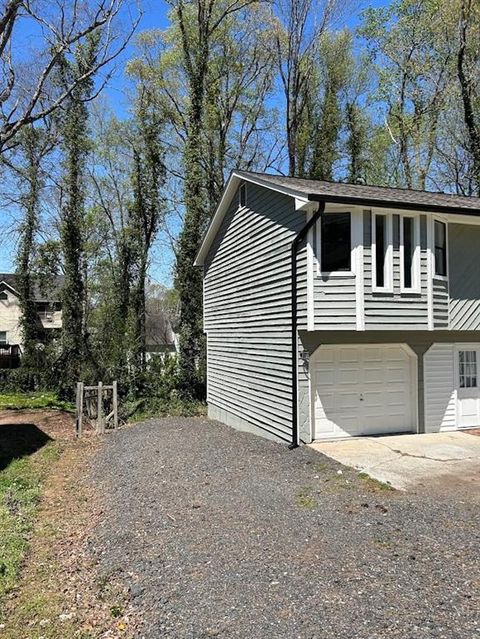
<instances>
[{"instance_id":1,"label":"dark shingle slope of the gray house's roof, without left trim","mask_svg":"<svg viewBox=\"0 0 480 639\"><path fill-rule=\"evenodd\" d=\"M254 178L264 182L265 186L279 186L304 195L310 200L327 199L327 201L354 204L377 204L392 208L419 207L425 210L443 209L480 215L480 198L435 193L433 191L415 191L413 189L397 189L384 186L366 186L363 184L344 184L342 182L324 182L301 178L235 171L246 179Z\"/></svg>"}]
</instances>

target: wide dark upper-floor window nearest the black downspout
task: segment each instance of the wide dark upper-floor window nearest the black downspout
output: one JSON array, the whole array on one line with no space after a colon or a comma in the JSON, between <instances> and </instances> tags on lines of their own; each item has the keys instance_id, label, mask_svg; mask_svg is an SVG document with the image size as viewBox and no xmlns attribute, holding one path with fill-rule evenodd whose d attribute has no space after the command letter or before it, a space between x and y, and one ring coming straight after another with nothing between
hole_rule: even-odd
<instances>
[{"instance_id":1,"label":"wide dark upper-floor window nearest the black downspout","mask_svg":"<svg viewBox=\"0 0 480 639\"><path fill-rule=\"evenodd\" d=\"M321 217L322 273L351 270L350 213L324 213Z\"/></svg>"}]
</instances>

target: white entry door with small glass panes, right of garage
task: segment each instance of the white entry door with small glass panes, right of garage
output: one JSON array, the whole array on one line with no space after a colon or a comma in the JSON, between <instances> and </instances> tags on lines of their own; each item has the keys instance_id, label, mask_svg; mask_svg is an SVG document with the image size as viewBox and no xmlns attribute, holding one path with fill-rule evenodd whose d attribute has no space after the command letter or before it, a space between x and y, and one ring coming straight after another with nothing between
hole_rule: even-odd
<instances>
[{"instance_id":1,"label":"white entry door with small glass panes, right of garage","mask_svg":"<svg viewBox=\"0 0 480 639\"><path fill-rule=\"evenodd\" d=\"M480 426L480 389L478 365L480 350L475 346L458 345L457 426Z\"/></svg>"}]
</instances>

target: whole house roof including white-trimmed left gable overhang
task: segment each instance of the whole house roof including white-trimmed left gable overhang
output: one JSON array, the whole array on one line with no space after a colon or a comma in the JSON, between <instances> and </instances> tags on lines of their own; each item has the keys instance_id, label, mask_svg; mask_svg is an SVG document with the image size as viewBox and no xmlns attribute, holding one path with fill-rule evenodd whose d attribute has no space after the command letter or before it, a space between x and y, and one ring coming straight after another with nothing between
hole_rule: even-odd
<instances>
[{"instance_id":1,"label":"whole house roof including white-trimmed left gable overhang","mask_svg":"<svg viewBox=\"0 0 480 639\"><path fill-rule=\"evenodd\" d=\"M220 204L207 229L195 260L195 265L200 266L204 263L208 250L227 212L231 198L242 181L252 182L285 195L290 195L300 201L300 203L324 201L352 206L377 206L410 211L420 210L480 216L480 198L477 197L465 197L433 191L417 191L414 189L397 189L386 186L306 180L251 171L233 171L223 191Z\"/></svg>"}]
</instances>

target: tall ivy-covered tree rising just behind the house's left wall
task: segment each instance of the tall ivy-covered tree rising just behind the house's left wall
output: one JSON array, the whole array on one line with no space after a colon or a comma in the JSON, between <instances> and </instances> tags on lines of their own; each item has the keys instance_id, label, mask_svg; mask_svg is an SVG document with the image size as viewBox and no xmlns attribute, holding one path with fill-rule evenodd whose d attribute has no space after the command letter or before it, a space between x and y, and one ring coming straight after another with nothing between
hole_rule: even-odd
<instances>
[{"instance_id":1,"label":"tall ivy-covered tree rising just behind the house's left wall","mask_svg":"<svg viewBox=\"0 0 480 639\"><path fill-rule=\"evenodd\" d=\"M176 260L180 298L179 383L186 397L204 393L205 345L202 327L202 274L194 266L209 218L204 191L203 135L208 69L213 43L229 16L256 0L171 0L187 81L183 166L185 216Z\"/></svg>"}]
</instances>

